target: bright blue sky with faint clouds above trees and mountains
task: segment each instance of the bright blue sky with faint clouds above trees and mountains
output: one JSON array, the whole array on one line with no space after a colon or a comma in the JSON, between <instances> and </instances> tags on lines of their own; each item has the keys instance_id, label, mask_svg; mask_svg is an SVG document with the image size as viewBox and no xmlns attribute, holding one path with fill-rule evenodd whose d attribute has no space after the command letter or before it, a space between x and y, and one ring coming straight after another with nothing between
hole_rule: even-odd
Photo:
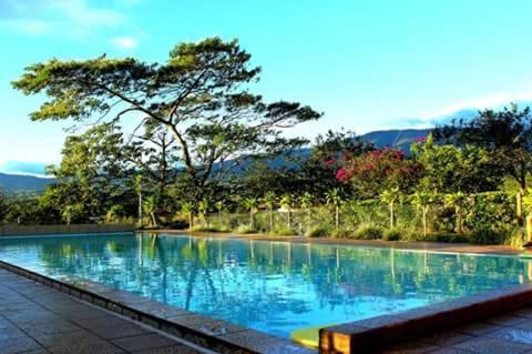
<instances>
[{"instance_id":1,"label":"bright blue sky with faint clouds above trees and mountains","mask_svg":"<svg viewBox=\"0 0 532 354\"><path fill-rule=\"evenodd\" d=\"M263 67L257 92L325 112L291 133L364 133L532 101L530 13L528 0L0 0L0 171L60 160L69 124L30 122L40 98L10 85L33 62L164 61L181 41L238 38Z\"/></svg>"}]
</instances>

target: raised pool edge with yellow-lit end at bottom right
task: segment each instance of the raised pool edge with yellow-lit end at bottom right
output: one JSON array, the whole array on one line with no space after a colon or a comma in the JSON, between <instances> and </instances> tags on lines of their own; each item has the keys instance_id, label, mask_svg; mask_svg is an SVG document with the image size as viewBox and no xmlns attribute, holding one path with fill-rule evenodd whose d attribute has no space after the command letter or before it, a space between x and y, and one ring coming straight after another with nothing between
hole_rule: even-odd
<instances>
[{"instance_id":1,"label":"raised pool edge with yellow-lit end at bottom right","mask_svg":"<svg viewBox=\"0 0 532 354\"><path fill-rule=\"evenodd\" d=\"M532 284L521 284L434 303L393 315L324 327L320 353L372 353L439 331L504 315L532 305Z\"/></svg>"}]
</instances>

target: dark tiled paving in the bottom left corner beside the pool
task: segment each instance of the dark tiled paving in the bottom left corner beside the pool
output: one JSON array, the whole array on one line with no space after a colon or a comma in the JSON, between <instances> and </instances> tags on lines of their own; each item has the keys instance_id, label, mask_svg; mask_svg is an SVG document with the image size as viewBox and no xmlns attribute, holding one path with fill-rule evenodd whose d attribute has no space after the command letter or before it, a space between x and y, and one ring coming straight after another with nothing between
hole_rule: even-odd
<instances>
[{"instance_id":1,"label":"dark tiled paving in the bottom left corner beside the pool","mask_svg":"<svg viewBox=\"0 0 532 354\"><path fill-rule=\"evenodd\" d=\"M0 354L204 353L178 340L0 270Z\"/></svg>"}]
</instances>

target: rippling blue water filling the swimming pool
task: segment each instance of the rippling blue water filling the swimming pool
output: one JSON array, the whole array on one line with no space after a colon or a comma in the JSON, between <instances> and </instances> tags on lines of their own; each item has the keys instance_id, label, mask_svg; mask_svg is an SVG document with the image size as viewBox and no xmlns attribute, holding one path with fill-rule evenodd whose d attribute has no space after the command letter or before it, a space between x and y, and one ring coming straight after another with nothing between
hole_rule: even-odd
<instances>
[{"instance_id":1,"label":"rippling blue water filling the swimming pool","mask_svg":"<svg viewBox=\"0 0 532 354\"><path fill-rule=\"evenodd\" d=\"M529 263L514 256L185 235L0 239L0 260L285 337L295 328L529 282L531 274Z\"/></svg>"}]
</instances>

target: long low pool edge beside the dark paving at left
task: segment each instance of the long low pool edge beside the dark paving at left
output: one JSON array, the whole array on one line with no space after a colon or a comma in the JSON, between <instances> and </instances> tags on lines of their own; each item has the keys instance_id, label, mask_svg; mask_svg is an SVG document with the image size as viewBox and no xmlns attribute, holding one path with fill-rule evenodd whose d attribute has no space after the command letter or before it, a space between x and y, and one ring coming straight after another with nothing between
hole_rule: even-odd
<instances>
[{"instance_id":1,"label":"long low pool edge beside the dark paving at left","mask_svg":"<svg viewBox=\"0 0 532 354\"><path fill-rule=\"evenodd\" d=\"M60 281L3 261L0 261L0 269L217 353L316 353L289 340L202 316L101 283L74 277Z\"/></svg>"}]
</instances>

